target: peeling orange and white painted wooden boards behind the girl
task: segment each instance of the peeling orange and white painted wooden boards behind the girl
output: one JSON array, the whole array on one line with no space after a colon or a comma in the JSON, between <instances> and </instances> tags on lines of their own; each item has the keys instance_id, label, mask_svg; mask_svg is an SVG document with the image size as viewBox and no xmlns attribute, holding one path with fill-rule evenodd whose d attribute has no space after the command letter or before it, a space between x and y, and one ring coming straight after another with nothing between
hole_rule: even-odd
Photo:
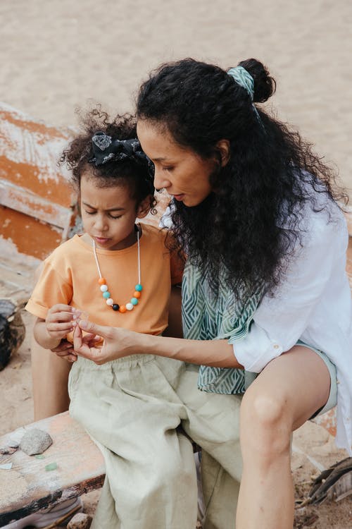
<instances>
[{"instance_id":1,"label":"peeling orange and white painted wooden boards behind the girl","mask_svg":"<svg viewBox=\"0 0 352 529\"><path fill-rule=\"evenodd\" d=\"M1 236L20 253L45 257L74 224L76 193L57 163L72 137L0 103Z\"/></svg>"}]
</instances>

